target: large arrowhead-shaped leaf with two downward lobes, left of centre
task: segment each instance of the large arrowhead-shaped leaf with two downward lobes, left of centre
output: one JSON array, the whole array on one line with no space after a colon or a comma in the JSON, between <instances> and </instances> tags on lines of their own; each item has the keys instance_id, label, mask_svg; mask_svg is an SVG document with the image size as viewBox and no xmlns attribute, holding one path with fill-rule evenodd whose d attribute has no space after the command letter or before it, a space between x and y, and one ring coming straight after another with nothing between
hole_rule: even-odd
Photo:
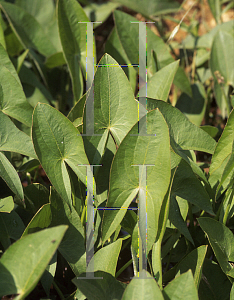
<instances>
[{"instance_id":1,"label":"large arrowhead-shaped leaf with two downward lobes, left of centre","mask_svg":"<svg viewBox=\"0 0 234 300\"><path fill-rule=\"evenodd\" d=\"M89 164L78 130L59 111L38 103L33 113L32 139L38 159L51 183L71 206L67 165L86 184L86 168L79 165Z\"/></svg>"}]
</instances>

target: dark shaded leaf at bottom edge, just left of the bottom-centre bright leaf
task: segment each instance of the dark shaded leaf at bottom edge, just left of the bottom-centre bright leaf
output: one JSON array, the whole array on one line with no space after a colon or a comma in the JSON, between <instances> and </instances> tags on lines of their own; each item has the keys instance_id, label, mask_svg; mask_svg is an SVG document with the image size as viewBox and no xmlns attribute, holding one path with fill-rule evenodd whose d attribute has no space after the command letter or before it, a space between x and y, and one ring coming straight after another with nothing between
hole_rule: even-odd
<instances>
[{"instance_id":1,"label":"dark shaded leaf at bottom edge, just left of the bottom-centre bright leaf","mask_svg":"<svg viewBox=\"0 0 234 300\"><path fill-rule=\"evenodd\" d=\"M102 277L102 279L86 279L86 273L84 273L80 277L73 279L72 282L88 299L122 299L125 284L116 280L111 274L103 271L95 272L94 276Z\"/></svg>"}]
</instances>

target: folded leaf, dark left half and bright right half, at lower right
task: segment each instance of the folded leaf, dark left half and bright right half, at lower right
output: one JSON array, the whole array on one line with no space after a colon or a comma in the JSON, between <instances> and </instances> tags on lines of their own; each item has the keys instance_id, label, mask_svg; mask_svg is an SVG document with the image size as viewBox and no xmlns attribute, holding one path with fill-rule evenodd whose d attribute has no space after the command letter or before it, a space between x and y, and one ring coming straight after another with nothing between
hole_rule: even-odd
<instances>
[{"instance_id":1,"label":"folded leaf, dark left half and bright right half, at lower right","mask_svg":"<svg viewBox=\"0 0 234 300\"><path fill-rule=\"evenodd\" d=\"M207 246L200 246L191 251L183 260L180 261L176 268L177 276L187 272L189 269L193 273L194 283L198 289L201 277L202 266L207 252Z\"/></svg>"}]
</instances>

